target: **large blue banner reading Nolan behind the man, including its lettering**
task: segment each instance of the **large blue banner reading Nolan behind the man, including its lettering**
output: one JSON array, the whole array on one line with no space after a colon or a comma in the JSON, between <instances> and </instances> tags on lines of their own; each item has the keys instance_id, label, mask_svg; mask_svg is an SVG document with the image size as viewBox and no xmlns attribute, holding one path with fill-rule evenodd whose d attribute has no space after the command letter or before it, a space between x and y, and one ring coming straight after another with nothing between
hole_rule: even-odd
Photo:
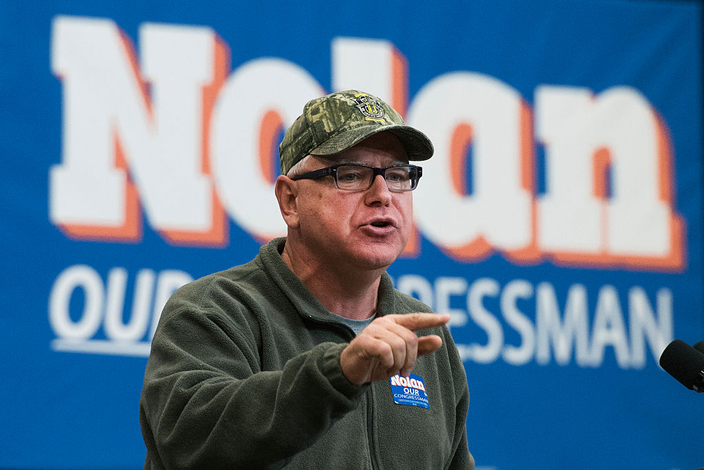
<instances>
[{"instance_id":1,"label":"large blue banner reading Nolan behind the man, including its lettering","mask_svg":"<svg viewBox=\"0 0 704 470\"><path fill-rule=\"evenodd\" d=\"M285 234L282 134L350 88L436 148L389 274L451 315L477 468L704 466L658 366L704 339L698 2L1 6L0 467L143 465L161 307Z\"/></svg>"}]
</instances>

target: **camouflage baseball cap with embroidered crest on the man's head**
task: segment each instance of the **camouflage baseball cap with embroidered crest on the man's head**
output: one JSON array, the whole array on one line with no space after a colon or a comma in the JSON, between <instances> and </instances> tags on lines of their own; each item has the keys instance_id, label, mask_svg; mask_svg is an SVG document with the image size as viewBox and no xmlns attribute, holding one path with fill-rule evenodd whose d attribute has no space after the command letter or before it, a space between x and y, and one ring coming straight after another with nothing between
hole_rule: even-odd
<instances>
[{"instance_id":1,"label":"camouflage baseball cap with embroidered crest on the man's head","mask_svg":"<svg viewBox=\"0 0 704 470\"><path fill-rule=\"evenodd\" d=\"M383 131L398 137L408 160L432 157L430 139L407 126L394 108L376 96L347 90L308 101L279 145L281 174L287 174L306 155L332 155Z\"/></svg>"}]
</instances>

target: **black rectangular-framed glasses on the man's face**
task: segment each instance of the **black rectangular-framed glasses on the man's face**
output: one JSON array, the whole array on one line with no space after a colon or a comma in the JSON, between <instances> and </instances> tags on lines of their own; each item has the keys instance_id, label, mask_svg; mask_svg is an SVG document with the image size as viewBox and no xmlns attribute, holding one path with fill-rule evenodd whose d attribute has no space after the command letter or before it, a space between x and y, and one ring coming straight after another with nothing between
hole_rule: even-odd
<instances>
[{"instance_id":1,"label":"black rectangular-framed glasses on the man's face","mask_svg":"<svg viewBox=\"0 0 704 470\"><path fill-rule=\"evenodd\" d=\"M377 174L386 181L389 191L413 191L423 174L422 167L416 165L391 165L390 167L370 167L367 165L332 165L312 172L298 174L291 179L320 179L332 176L335 186L345 191L366 191L372 187Z\"/></svg>"}]
</instances>

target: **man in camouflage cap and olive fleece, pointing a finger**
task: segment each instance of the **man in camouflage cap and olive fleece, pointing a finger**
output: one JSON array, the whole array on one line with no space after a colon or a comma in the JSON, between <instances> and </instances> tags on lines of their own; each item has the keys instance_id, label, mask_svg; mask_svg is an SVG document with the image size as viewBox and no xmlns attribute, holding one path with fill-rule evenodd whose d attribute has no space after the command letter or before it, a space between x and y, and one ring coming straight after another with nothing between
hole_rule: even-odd
<instances>
[{"instance_id":1,"label":"man in camouflage cap and olive fleece, pointing a finger","mask_svg":"<svg viewBox=\"0 0 704 470\"><path fill-rule=\"evenodd\" d=\"M432 152L375 96L306 104L279 146L287 237L164 308L140 400L145 468L474 468L449 317L386 274L410 235L409 160Z\"/></svg>"}]
</instances>

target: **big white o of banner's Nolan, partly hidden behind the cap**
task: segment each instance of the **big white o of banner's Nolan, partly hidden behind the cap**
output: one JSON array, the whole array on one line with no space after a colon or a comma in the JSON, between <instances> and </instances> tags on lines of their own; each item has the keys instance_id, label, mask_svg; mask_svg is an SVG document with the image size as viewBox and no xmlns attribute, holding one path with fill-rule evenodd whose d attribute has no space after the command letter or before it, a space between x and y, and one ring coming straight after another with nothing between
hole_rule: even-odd
<instances>
[{"instance_id":1,"label":"big white o of banner's Nolan, partly hidden behind the cap","mask_svg":"<svg viewBox=\"0 0 704 470\"><path fill-rule=\"evenodd\" d=\"M218 193L235 222L260 241L286 234L273 189L274 138L323 94L298 65L262 58L237 68L218 96L211 133Z\"/></svg>"}]
</instances>

